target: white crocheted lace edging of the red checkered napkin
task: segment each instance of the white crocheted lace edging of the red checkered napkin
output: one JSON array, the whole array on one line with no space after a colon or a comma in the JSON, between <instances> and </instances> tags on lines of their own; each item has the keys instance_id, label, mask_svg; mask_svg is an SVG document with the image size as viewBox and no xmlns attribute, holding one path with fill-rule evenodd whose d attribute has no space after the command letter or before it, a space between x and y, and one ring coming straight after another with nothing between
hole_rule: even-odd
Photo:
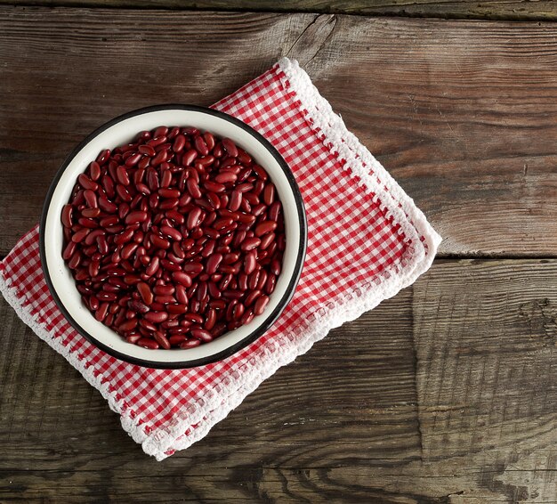
<instances>
[{"instance_id":1,"label":"white crocheted lace edging of the red checkered napkin","mask_svg":"<svg viewBox=\"0 0 557 504\"><path fill-rule=\"evenodd\" d=\"M185 411L187 418L179 419L173 427L164 431L158 429L147 434L145 427L141 425L141 419L132 417L131 411L125 407L124 400L110 390L109 381L101 375L95 375L93 370L86 366L85 360L79 360L76 354L72 354L61 344L61 338L56 337L53 330L45 329L44 323L26 310L25 296L8 284L4 278L4 268L0 267L0 291L20 319L33 329L38 337L62 354L101 392L109 402L110 409L120 414L125 431L136 443L141 444L143 451L157 460L165 459L174 451L184 450L202 439L262 381L270 378L282 366L293 362L297 356L305 354L314 343L326 337L331 329L346 321L357 319L362 313L375 308L384 299L394 296L400 289L412 284L431 266L441 241L440 235L433 230L413 200L344 126L343 119L333 112L330 104L319 94L297 61L283 58L278 61L277 68L285 89L295 97L308 125L321 142L324 142L341 162L347 175L358 178L359 184L373 196L374 201L387 215L392 215L393 221L400 224L400 230L404 232L407 240L412 241L414 254L404 265L402 272L385 270L381 275L382 281L362 285L360 289L346 293L342 300L322 306L311 319L303 321L289 333L277 337L269 348L262 348L262 354L248 359L244 364L245 371L237 372L230 378L226 377L220 384L208 390L204 397L199 398L198 402ZM383 201L382 195L387 192L388 201ZM268 358L262 359L262 356ZM234 389L230 389L232 379Z\"/></svg>"}]
</instances>

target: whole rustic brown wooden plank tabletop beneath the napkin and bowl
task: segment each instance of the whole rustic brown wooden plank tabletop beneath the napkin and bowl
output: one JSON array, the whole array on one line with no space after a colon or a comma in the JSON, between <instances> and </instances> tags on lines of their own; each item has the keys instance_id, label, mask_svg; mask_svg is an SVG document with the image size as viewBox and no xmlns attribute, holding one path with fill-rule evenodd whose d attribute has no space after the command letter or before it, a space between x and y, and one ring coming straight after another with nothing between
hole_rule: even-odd
<instances>
[{"instance_id":1,"label":"whole rustic brown wooden plank tabletop beneath the napkin and bowl","mask_svg":"<svg viewBox=\"0 0 557 504\"><path fill-rule=\"evenodd\" d=\"M1 301L1 502L557 501L555 4L17 3L0 0L0 254L93 128L209 104L281 55L444 241L412 288L160 463Z\"/></svg>"}]
</instances>

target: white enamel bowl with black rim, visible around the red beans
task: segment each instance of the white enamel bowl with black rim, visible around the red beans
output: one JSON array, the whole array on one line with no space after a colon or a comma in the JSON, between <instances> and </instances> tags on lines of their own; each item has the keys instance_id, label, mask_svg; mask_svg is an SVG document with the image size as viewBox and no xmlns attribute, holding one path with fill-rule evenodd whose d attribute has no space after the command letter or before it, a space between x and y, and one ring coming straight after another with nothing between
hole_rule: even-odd
<instances>
[{"instance_id":1,"label":"white enamel bowl with black rim, visible around the red beans","mask_svg":"<svg viewBox=\"0 0 557 504\"><path fill-rule=\"evenodd\" d=\"M297 190L294 177L276 150L254 130L237 119L230 118L214 110L198 107L174 106L155 108L150 111L136 111L102 126L85 140L67 159L52 183L43 215L43 260L47 280L62 312L85 337L93 340L109 354L126 361L149 367L189 367L214 362L260 336L287 305L292 296L302 269L305 255L305 214L303 202ZM69 268L61 257L63 232L61 209L68 202L77 175L85 171L89 163L102 149L113 149L125 142L131 142L135 134L157 126L196 126L211 131L218 136L231 138L246 150L265 168L275 183L278 197L284 208L287 248L283 259L282 272L277 286L270 296L270 303L262 315L249 324L235 329L204 345L187 350L148 350L126 343L114 331L96 321L92 313L82 304L80 295Z\"/></svg>"}]
</instances>

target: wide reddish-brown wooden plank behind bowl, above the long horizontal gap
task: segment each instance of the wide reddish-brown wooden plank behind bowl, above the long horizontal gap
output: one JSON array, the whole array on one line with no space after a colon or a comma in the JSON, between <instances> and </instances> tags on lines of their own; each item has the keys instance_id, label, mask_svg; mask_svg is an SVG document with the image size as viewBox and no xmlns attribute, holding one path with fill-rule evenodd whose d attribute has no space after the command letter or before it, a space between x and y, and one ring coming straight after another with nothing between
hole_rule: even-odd
<instances>
[{"instance_id":1,"label":"wide reddish-brown wooden plank behind bowl, above the long horizontal gap","mask_svg":"<svg viewBox=\"0 0 557 504\"><path fill-rule=\"evenodd\" d=\"M95 127L209 104L282 55L424 210L441 256L557 254L557 25L3 7L0 53L0 254Z\"/></svg>"}]
</instances>

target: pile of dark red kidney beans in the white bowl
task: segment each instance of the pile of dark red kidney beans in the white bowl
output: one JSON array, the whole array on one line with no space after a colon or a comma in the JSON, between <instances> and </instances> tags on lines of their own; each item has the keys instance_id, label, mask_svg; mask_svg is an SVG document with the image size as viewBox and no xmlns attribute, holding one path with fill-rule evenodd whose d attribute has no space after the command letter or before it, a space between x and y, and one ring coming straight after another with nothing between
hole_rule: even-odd
<instances>
[{"instance_id":1,"label":"pile of dark red kidney beans in the white bowl","mask_svg":"<svg viewBox=\"0 0 557 504\"><path fill-rule=\"evenodd\" d=\"M192 348L262 314L286 246L269 175L195 127L159 126L102 150L61 221L85 305L152 349Z\"/></svg>"}]
</instances>

